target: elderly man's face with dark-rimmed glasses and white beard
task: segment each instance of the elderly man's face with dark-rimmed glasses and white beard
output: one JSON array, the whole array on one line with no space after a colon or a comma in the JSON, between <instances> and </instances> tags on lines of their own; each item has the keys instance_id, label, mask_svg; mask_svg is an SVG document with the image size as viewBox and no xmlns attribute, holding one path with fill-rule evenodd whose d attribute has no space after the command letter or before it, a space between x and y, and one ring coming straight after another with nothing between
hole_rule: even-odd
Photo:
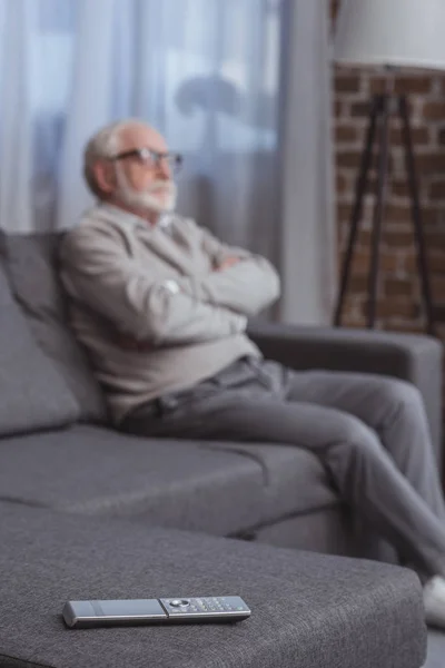
<instances>
[{"instance_id":1,"label":"elderly man's face with dark-rimmed glasses and white beard","mask_svg":"<svg viewBox=\"0 0 445 668\"><path fill-rule=\"evenodd\" d=\"M170 212L176 204L176 186L167 158L168 147L150 127L135 125L120 134L118 159L112 160L112 199L123 208L142 214Z\"/></svg>"}]
</instances>

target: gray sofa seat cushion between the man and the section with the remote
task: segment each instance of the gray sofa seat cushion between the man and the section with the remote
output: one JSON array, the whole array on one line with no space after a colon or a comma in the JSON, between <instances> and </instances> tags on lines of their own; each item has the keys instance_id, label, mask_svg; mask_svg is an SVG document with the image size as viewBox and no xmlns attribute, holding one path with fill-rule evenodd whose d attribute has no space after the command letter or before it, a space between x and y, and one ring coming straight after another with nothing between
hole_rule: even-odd
<instances>
[{"instance_id":1,"label":"gray sofa seat cushion between the man and the section with the remote","mask_svg":"<svg viewBox=\"0 0 445 668\"><path fill-rule=\"evenodd\" d=\"M248 458L92 426L0 441L0 498L226 534L261 520Z\"/></svg>"}]
</instances>

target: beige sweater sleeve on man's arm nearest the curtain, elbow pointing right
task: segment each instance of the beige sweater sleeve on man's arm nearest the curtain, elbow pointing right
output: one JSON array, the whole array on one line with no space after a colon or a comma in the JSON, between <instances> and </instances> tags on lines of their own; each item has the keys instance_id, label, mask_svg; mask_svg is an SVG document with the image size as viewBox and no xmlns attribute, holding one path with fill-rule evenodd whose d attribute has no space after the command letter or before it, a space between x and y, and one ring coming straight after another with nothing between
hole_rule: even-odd
<instances>
[{"instance_id":1,"label":"beige sweater sleeve on man's arm nearest the curtain, elbow pointing right","mask_svg":"<svg viewBox=\"0 0 445 668\"><path fill-rule=\"evenodd\" d=\"M201 237L205 252L217 267L227 257L238 263L208 275L186 276L178 281L181 292L214 306L222 306L246 316L257 315L273 304L280 293L280 281L273 265L259 255L228 246L195 223L195 234Z\"/></svg>"}]
</instances>

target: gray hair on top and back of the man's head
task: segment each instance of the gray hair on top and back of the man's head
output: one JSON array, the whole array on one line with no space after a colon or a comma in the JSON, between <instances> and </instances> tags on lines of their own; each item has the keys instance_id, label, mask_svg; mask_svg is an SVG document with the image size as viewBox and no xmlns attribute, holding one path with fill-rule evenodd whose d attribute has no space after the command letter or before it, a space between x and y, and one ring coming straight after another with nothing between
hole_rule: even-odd
<instances>
[{"instance_id":1,"label":"gray hair on top and back of the man's head","mask_svg":"<svg viewBox=\"0 0 445 668\"><path fill-rule=\"evenodd\" d=\"M98 160L111 158L119 151L120 132L134 125L142 124L136 118L112 122L96 132L85 148L83 176L91 193L99 198L103 196L103 193L96 180L93 166Z\"/></svg>"}]
</instances>

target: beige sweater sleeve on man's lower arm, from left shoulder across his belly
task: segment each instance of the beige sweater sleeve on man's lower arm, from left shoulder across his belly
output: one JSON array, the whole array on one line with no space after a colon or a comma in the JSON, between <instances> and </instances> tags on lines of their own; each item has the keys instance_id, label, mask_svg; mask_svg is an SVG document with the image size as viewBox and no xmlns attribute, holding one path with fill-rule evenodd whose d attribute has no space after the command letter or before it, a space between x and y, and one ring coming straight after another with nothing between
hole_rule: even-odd
<instances>
[{"instance_id":1,"label":"beige sweater sleeve on man's lower arm, from left shoulder across his belly","mask_svg":"<svg viewBox=\"0 0 445 668\"><path fill-rule=\"evenodd\" d=\"M156 345L198 343L246 330L247 318L205 304L159 281L125 249L116 230L81 225L66 236L61 278L71 298L109 320L122 334Z\"/></svg>"}]
</instances>

